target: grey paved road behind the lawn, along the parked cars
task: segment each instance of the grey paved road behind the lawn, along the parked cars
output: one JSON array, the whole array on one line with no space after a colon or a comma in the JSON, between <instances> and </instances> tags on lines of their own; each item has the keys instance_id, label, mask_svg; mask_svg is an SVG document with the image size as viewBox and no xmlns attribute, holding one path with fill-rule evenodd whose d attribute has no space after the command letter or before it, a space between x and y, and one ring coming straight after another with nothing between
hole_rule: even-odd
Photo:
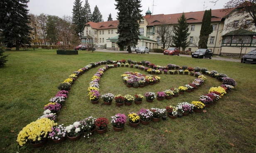
<instances>
[{"instance_id":1,"label":"grey paved road behind the lawn, along the parked cars","mask_svg":"<svg viewBox=\"0 0 256 153\"><path fill-rule=\"evenodd\" d=\"M107 52L107 53L127 53L127 51L116 51L116 50L95 50L96 52ZM132 52L133 54L136 52ZM163 55L163 53L154 53L154 52L150 52L149 54L159 54L159 55ZM191 57L191 55L182 55L180 54L180 56L183 57ZM191 57L192 58L192 57ZM212 57L212 60L224 60L224 61L229 61L229 62L241 62L241 60L237 60L237 59L232 59L232 58L222 58L222 57Z\"/></svg>"}]
</instances>

